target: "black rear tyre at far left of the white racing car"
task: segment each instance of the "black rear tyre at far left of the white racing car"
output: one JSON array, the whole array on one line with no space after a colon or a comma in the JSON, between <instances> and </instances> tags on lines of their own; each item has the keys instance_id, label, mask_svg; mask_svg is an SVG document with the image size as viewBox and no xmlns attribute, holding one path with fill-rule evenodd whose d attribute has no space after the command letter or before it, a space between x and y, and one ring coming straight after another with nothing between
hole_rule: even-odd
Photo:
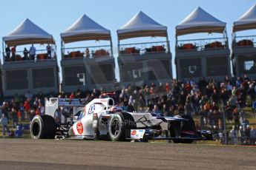
<instances>
[{"instance_id":1,"label":"black rear tyre at far left of the white racing car","mask_svg":"<svg viewBox=\"0 0 256 170\"><path fill-rule=\"evenodd\" d=\"M36 115L30 123L32 139L53 139L56 135L56 123L50 115Z\"/></svg>"}]
</instances>

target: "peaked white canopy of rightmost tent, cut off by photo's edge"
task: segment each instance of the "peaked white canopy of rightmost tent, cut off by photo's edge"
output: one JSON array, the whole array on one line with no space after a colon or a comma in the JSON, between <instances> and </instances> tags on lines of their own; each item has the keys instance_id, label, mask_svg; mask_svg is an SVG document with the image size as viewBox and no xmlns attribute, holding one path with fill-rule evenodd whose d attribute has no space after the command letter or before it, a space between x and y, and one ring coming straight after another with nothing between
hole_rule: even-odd
<instances>
[{"instance_id":1,"label":"peaked white canopy of rightmost tent, cut off by photo's edge","mask_svg":"<svg viewBox=\"0 0 256 170\"><path fill-rule=\"evenodd\" d=\"M256 29L256 4L234 21L233 32Z\"/></svg>"}]
</instances>

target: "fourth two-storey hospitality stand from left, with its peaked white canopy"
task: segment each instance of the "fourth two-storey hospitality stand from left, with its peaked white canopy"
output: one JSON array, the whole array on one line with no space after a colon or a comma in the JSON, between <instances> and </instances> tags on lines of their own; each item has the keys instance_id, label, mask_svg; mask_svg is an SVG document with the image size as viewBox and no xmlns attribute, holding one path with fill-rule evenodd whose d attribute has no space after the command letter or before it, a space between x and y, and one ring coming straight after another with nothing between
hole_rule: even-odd
<instances>
[{"instance_id":1,"label":"fourth two-storey hospitality stand from left, with its peaked white canopy","mask_svg":"<svg viewBox=\"0 0 256 170\"><path fill-rule=\"evenodd\" d=\"M217 33L222 38L180 40L181 35L194 33ZM176 27L177 78L198 81L214 78L222 81L230 71L230 50L226 34L226 23L214 18L197 7Z\"/></svg>"}]
</instances>

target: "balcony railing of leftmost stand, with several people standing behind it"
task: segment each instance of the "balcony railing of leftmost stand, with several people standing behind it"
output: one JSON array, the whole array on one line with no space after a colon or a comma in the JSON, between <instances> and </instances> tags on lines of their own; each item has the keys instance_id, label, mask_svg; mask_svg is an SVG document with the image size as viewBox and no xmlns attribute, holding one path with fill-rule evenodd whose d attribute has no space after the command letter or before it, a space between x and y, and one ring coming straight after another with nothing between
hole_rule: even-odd
<instances>
[{"instance_id":1,"label":"balcony railing of leftmost stand, with several people standing behind it","mask_svg":"<svg viewBox=\"0 0 256 170\"><path fill-rule=\"evenodd\" d=\"M22 63L35 61L53 61L56 60L55 50L47 52L47 50L36 50L35 55L30 55L29 51L3 52L4 63Z\"/></svg>"}]
</instances>

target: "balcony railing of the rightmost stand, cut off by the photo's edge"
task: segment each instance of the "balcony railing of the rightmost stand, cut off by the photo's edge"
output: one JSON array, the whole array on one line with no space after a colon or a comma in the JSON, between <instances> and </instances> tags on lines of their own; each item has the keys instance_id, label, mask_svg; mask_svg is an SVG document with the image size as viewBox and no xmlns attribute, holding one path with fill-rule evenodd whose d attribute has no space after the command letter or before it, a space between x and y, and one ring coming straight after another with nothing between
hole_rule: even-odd
<instances>
[{"instance_id":1,"label":"balcony railing of the rightmost stand, cut off by the photo's edge","mask_svg":"<svg viewBox=\"0 0 256 170\"><path fill-rule=\"evenodd\" d=\"M247 35L247 36L237 36L234 37L233 46L240 47L255 47L256 45L256 35Z\"/></svg>"}]
</instances>

